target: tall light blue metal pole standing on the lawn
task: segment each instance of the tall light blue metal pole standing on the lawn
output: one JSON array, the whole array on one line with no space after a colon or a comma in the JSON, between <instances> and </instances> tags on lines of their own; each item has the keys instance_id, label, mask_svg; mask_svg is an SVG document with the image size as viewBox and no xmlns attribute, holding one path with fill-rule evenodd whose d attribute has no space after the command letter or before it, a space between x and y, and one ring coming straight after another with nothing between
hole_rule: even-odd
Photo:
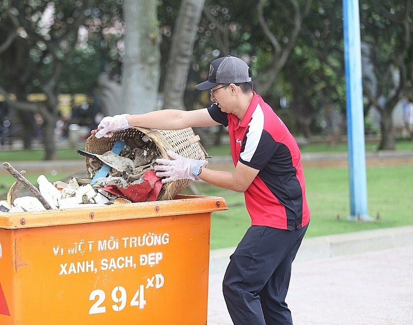
<instances>
[{"instance_id":1,"label":"tall light blue metal pole standing on the lawn","mask_svg":"<svg viewBox=\"0 0 413 325\"><path fill-rule=\"evenodd\" d=\"M343 0L343 16L350 183L348 219L371 220L367 214L359 0Z\"/></svg>"}]
</instances>

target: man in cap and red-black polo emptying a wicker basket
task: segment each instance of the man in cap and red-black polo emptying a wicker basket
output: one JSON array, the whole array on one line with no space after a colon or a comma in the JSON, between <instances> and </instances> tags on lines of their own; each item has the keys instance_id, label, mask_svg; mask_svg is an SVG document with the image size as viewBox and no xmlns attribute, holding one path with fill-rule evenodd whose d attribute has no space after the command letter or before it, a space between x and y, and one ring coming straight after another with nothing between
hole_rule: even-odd
<instances>
[{"instance_id":1,"label":"man in cap and red-black polo emptying a wicker basket","mask_svg":"<svg viewBox=\"0 0 413 325\"><path fill-rule=\"evenodd\" d=\"M209 91L214 102L209 108L105 117L92 134L112 136L130 126L165 130L227 126L234 173L205 168L204 161L169 152L172 160L157 160L156 175L166 177L163 182L202 179L244 193L251 227L225 272L229 314L237 325L293 324L285 297L291 264L310 222L301 154L281 119L252 90L251 77L241 59L216 59L208 80L196 85Z\"/></svg>"}]
</instances>

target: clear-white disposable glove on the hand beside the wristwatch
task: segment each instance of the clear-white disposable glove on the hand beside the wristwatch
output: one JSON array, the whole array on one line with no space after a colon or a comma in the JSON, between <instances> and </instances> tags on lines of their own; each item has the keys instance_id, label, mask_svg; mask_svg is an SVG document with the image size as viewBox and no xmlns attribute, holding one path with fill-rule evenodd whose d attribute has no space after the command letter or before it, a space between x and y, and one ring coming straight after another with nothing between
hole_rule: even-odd
<instances>
[{"instance_id":1,"label":"clear-white disposable glove on the hand beside the wristwatch","mask_svg":"<svg viewBox=\"0 0 413 325\"><path fill-rule=\"evenodd\" d=\"M202 167L205 165L206 160L185 158L172 150L167 150L166 153L172 160L159 158L156 159L156 162L159 165L154 166L154 170L157 172L157 177L166 177L165 179L162 179L162 183L178 179L199 180L198 176L192 174L192 167L195 165Z\"/></svg>"}]
</instances>

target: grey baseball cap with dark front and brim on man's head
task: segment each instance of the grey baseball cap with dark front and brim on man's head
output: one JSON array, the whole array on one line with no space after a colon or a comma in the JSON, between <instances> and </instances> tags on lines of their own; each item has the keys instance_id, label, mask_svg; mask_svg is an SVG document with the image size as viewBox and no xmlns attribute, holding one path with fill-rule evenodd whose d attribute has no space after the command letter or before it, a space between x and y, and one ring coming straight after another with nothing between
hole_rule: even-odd
<instances>
[{"instance_id":1,"label":"grey baseball cap with dark front and brim on man's head","mask_svg":"<svg viewBox=\"0 0 413 325\"><path fill-rule=\"evenodd\" d=\"M218 84L250 82L252 71L249 66L235 56L224 56L209 65L208 80L198 83L195 88L207 90Z\"/></svg>"}]
</instances>

